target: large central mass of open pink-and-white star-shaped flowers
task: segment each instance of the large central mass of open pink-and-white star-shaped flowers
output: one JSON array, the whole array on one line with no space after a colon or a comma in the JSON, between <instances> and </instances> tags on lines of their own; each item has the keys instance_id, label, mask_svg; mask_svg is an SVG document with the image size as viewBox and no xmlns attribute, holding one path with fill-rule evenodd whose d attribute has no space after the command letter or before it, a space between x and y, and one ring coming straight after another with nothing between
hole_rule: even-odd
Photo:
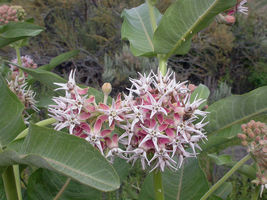
<instances>
[{"instance_id":1,"label":"large central mass of open pink-and-white star-shaped flowers","mask_svg":"<svg viewBox=\"0 0 267 200\"><path fill-rule=\"evenodd\" d=\"M128 95L123 94L124 100L119 94L109 106L88 97L87 89L76 85L71 72L68 83L56 83L66 91L65 97L55 97L56 105L49 107L57 119L55 129L67 127L70 134L85 138L111 161L115 156L133 164L140 160L143 169L177 169L185 157L195 157L198 142L207 139L203 127L208 123L204 122L207 112L199 109L205 100L191 99L195 87L177 83L170 71L165 76L161 72L140 74L140 79L130 81L132 87Z\"/></svg>"}]
</instances>

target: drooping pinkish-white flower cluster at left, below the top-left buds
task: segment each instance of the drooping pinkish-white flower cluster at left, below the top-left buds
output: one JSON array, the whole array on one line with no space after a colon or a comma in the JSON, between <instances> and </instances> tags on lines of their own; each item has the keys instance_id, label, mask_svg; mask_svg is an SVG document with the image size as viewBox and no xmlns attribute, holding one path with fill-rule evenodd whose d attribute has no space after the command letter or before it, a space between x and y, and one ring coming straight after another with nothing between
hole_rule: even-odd
<instances>
[{"instance_id":1,"label":"drooping pinkish-white flower cluster at left, below the top-left buds","mask_svg":"<svg viewBox=\"0 0 267 200\"><path fill-rule=\"evenodd\" d=\"M29 56L21 57L22 66L27 68L37 68L37 64ZM17 59L12 60L12 63L18 64ZM36 107L37 101L35 100L35 92L27 86L27 73L20 73L18 67L15 65L10 65L11 78L7 80L9 89L17 95L19 100L24 104L24 122L28 124L28 119L30 115L26 112L27 109L33 109L34 111L39 111Z\"/></svg>"}]
</instances>

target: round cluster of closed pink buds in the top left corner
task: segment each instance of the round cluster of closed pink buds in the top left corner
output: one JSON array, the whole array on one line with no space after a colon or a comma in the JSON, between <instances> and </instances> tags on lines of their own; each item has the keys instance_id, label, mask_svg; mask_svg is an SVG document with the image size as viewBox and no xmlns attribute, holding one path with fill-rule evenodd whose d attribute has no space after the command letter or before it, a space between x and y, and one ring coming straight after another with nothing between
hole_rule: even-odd
<instances>
[{"instance_id":1,"label":"round cluster of closed pink buds in the top left corner","mask_svg":"<svg viewBox=\"0 0 267 200\"><path fill-rule=\"evenodd\" d=\"M26 12L21 6L0 6L0 25L7 24L9 22L23 21Z\"/></svg>"}]
</instances>

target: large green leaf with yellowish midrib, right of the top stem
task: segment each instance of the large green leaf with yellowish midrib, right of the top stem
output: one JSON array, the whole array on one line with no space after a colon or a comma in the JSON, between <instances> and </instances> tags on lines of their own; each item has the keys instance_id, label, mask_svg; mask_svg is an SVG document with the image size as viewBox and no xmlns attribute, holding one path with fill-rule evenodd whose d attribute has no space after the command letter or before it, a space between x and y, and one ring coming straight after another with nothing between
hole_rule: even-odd
<instances>
[{"instance_id":1,"label":"large green leaf with yellowish midrib, right of the top stem","mask_svg":"<svg viewBox=\"0 0 267 200\"><path fill-rule=\"evenodd\" d=\"M179 0L163 15L153 43L155 53L185 54L194 34L207 27L220 12L233 7L236 0Z\"/></svg>"}]
</instances>

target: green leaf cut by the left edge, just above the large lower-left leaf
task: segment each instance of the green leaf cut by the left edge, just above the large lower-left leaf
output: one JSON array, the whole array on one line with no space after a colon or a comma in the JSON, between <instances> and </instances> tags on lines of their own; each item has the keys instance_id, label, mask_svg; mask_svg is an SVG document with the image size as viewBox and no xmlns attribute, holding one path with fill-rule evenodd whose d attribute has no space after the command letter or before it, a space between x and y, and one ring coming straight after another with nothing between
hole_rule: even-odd
<instances>
[{"instance_id":1,"label":"green leaf cut by the left edge, just above the large lower-left leaf","mask_svg":"<svg viewBox=\"0 0 267 200\"><path fill-rule=\"evenodd\" d=\"M0 75L0 149L11 142L24 128L24 105L11 92Z\"/></svg>"}]
</instances>

